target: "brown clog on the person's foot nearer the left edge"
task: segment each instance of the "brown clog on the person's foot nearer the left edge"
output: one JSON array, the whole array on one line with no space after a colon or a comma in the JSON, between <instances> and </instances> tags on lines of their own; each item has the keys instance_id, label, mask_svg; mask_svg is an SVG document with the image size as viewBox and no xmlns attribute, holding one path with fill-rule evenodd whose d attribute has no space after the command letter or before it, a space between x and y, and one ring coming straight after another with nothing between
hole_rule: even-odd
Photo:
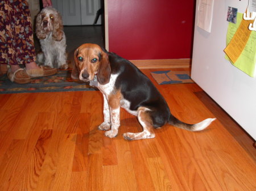
<instances>
[{"instance_id":1,"label":"brown clog on the person's foot nearer the left edge","mask_svg":"<svg viewBox=\"0 0 256 191\"><path fill-rule=\"evenodd\" d=\"M30 76L26 73L24 69L18 69L14 71L14 73L11 71L11 69L9 69L7 71L7 77L11 80L11 82L19 84L31 82Z\"/></svg>"}]
</instances>

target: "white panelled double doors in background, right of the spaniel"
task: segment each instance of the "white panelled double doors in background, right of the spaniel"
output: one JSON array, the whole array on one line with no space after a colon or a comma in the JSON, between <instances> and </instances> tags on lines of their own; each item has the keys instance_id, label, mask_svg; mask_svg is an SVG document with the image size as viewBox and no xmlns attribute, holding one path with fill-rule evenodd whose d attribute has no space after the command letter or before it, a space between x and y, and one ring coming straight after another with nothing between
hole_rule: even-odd
<instances>
[{"instance_id":1,"label":"white panelled double doors in background, right of the spaniel","mask_svg":"<svg viewBox=\"0 0 256 191\"><path fill-rule=\"evenodd\" d=\"M101 1L52 0L52 6L62 15L65 26L92 25L97 11L101 8ZM97 24L101 24L101 18L98 19Z\"/></svg>"}]
</instances>

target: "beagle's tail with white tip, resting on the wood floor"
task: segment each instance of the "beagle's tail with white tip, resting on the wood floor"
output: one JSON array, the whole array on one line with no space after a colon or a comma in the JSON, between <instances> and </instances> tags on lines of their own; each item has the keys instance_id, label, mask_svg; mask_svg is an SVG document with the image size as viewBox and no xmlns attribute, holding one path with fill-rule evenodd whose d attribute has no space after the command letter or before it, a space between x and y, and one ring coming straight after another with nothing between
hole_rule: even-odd
<instances>
[{"instance_id":1,"label":"beagle's tail with white tip, resting on the wood floor","mask_svg":"<svg viewBox=\"0 0 256 191\"><path fill-rule=\"evenodd\" d=\"M200 131L207 128L214 120L216 120L216 118L207 118L206 120L201 121L198 124L186 124L171 115L168 124L175 126L176 128L181 128L189 131Z\"/></svg>"}]
</instances>

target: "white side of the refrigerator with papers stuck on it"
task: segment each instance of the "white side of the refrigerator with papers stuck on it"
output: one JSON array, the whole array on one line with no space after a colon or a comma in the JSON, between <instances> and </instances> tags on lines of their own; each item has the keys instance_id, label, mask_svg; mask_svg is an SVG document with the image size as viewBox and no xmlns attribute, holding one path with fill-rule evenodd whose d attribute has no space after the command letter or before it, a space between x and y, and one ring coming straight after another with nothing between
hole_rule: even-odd
<instances>
[{"instance_id":1,"label":"white side of the refrigerator with papers stuck on it","mask_svg":"<svg viewBox=\"0 0 256 191\"><path fill-rule=\"evenodd\" d=\"M256 78L251 78L225 60L228 7L245 12L248 1L214 0L212 31L196 26L192 57L192 79L256 139Z\"/></svg>"}]
</instances>

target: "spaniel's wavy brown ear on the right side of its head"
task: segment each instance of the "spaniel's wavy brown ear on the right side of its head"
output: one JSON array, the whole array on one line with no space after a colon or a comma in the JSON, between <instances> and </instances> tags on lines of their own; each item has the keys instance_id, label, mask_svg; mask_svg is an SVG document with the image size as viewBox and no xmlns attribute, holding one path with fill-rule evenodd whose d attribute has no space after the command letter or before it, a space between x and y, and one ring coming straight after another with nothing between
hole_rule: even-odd
<instances>
[{"instance_id":1,"label":"spaniel's wavy brown ear on the right side of its head","mask_svg":"<svg viewBox=\"0 0 256 191\"><path fill-rule=\"evenodd\" d=\"M54 18L52 38L56 41L61 41L63 39L63 22L59 12L56 12Z\"/></svg>"}]
</instances>

